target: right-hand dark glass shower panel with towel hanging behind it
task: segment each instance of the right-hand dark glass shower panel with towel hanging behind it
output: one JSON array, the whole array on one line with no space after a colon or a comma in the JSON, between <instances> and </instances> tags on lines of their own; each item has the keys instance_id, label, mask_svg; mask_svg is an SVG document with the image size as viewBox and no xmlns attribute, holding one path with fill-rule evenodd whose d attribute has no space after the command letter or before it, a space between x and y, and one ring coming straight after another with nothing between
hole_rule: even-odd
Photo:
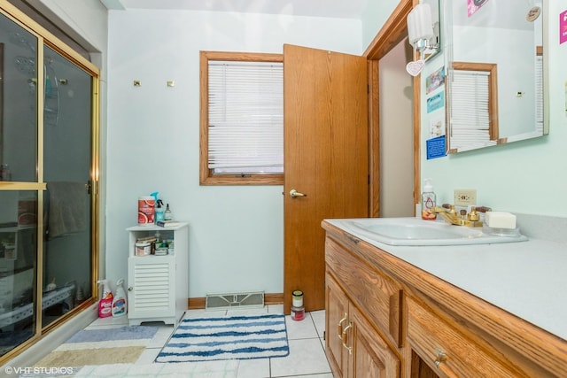
<instances>
[{"instance_id":1,"label":"right-hand dark glass shower panel with towel hanging behind it","mask_svg":"<svg viewBox=\"0 0 567 378\"><path fill-rule=\"evenodd\" d=\"M91 297L92 77L45 46L42 326Z\"/></svg>"}]
</instances>

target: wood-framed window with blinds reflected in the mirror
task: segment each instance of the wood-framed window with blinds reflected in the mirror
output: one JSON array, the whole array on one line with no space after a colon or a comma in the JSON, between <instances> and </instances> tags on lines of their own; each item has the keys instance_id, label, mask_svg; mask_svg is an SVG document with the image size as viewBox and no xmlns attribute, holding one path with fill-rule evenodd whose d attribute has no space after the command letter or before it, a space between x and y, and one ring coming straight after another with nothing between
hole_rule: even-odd
<instances>
[{"instance_id":1,"label":"wood-framed window with blinds reflected in the mirror","mask_svg":"<svg viewBox=\"0 0 567 378\"><path fill-rule=\"evenodd\" d=\"M496 144L496 65L454 62L452 80L450 149Z\"/></svg>"}]
</instances>

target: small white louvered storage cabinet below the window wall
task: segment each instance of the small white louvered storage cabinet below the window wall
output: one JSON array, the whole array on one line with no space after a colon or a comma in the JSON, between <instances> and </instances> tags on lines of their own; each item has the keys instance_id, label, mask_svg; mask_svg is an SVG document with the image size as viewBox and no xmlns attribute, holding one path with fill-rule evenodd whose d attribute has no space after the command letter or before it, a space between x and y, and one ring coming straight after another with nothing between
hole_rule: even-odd
<instances>
[{"instance_id":1,"label":"small white louvered storage cabinet below the window wall","mask_svg":"<svg viewBox=\"0 0 567 378\"><path fill-rule=\"evenodd\" d=\"M130 326L144 321L176 324L187 310L189 297L189 228L187 223L162 228L127 228L128 320ZM165 256L136 256L136 240L159 233L161 240L174 241L174 251Z\"/></svg>"}]
</instances>

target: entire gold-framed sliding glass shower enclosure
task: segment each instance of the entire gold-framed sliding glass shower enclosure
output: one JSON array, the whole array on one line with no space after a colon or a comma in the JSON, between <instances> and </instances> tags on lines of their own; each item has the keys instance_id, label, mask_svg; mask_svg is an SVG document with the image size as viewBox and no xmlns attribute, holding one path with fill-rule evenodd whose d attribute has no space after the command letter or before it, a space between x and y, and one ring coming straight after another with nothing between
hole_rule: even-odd
<instances>
[{"instance_id":1,"label":"entire gold-framed sliding glass shower enclosure","mask_svg":"<svg viewBox=\"0 0 567 378\"><path fill-rule=\"evenodd\" d=\"M96 297L98 156L97 68L1 11L0 363Z\"/></svg>"}]
</instances>

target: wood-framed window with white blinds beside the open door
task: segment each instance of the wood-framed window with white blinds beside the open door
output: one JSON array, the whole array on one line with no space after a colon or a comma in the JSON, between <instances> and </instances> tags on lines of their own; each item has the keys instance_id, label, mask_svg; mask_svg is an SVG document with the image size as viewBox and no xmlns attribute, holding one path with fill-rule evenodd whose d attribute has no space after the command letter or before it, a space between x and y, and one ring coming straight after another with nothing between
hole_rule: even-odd
<instances>
[{"instance_id":1,"label":"wood-framed window with white blinds beside the open door","mask_svg":"<svg viewBox=\"0 0 567 378\"><path fill-rule=\"evenodd\" d=\"M239 57L202 53L201 183L283 183L282 58Z\"/></svg>"}]
</instances>

